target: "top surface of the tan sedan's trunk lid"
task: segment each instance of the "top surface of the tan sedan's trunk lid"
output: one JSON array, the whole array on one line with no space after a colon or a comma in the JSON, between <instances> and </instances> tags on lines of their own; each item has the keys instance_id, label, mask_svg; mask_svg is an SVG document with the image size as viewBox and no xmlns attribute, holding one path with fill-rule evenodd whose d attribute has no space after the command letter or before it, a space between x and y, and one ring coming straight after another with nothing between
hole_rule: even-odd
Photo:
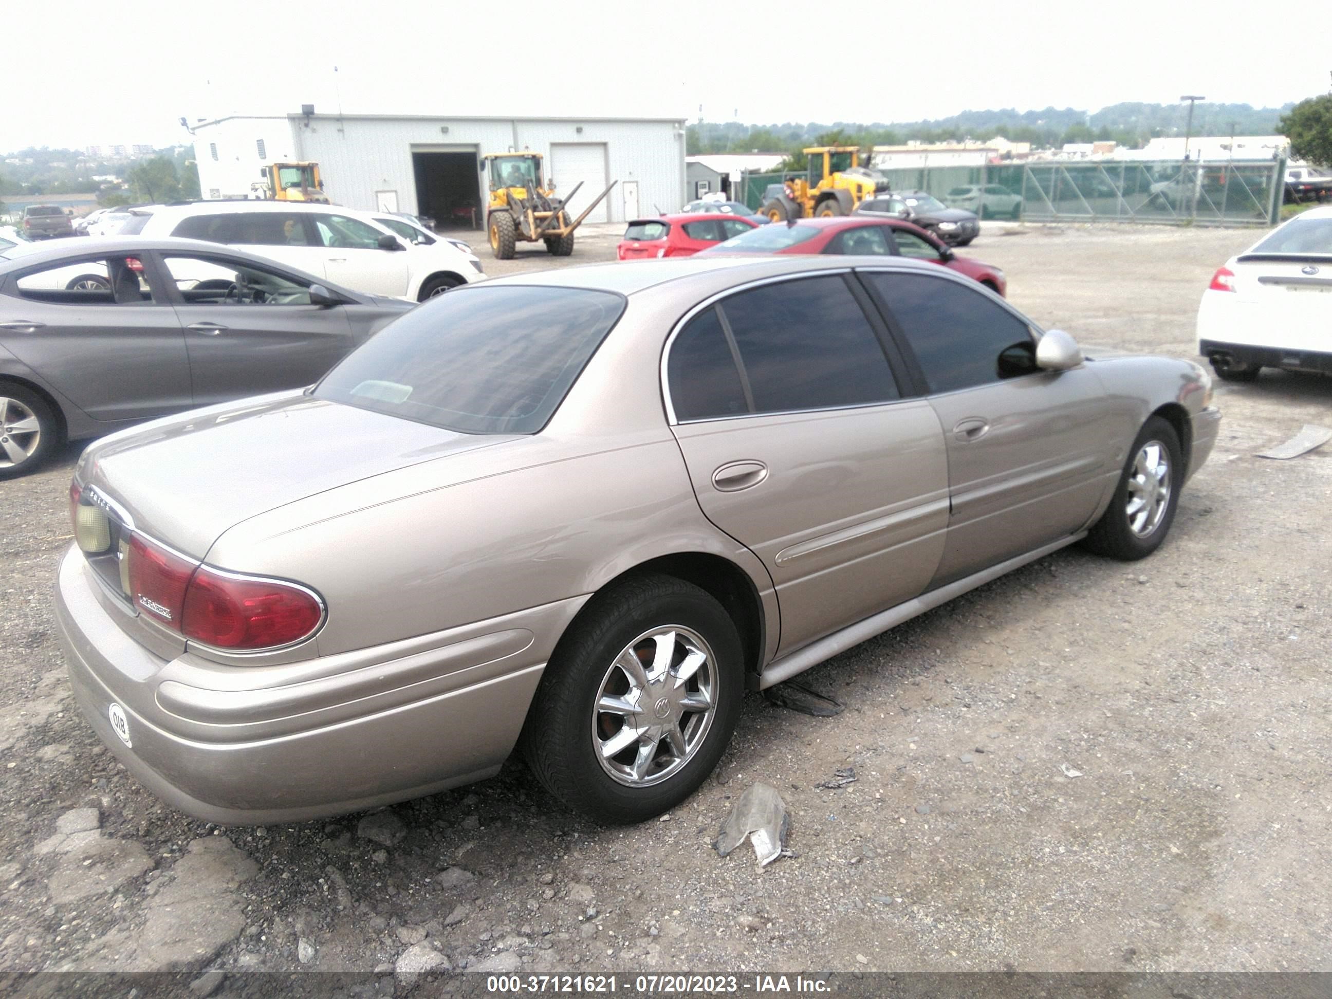
<instances>
[{"instance_id":1,"label":"top surface of the tan sedan's trunk lid","mask_svg":"<svg viewBox=\"0 0 1332 999\"><path fill-rule=\"evenodd\" d=\"M218 535L250 517L513 437L464 434L282 393L108 437L85 453L80 480L123 507L137 530L202 559Z\"/></svg>"}]
</instances>

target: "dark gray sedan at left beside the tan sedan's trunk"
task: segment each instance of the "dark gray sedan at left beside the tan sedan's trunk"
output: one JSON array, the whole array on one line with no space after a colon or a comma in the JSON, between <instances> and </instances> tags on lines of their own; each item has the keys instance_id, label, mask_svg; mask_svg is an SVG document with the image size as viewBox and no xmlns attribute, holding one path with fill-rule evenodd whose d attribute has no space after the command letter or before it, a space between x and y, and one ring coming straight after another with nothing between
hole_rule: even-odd
<instances>
[{"instance_id":1,"label":"dark gray sedan at left beside the tan sedan's trunk","mask_svg":"<svg viewBox=\"0 0 1332 999\"><path fill-rule=\"evenodd\" d=\"M214 242L0 254L0 478L61 441L317 381L413 306Z\"/></svg>"}]
</instances>

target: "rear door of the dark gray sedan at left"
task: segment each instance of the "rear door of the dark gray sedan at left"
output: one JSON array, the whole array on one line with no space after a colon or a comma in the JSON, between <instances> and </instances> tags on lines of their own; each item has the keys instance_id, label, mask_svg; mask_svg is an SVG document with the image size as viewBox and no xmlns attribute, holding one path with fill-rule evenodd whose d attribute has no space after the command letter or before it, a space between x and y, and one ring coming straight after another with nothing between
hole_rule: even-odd
<instances>
[{"instance_id":1,"label":"rear door of the dark gray sedan at left","mask_svg":"<svg viewBox=\"0 0 1332 999\"><path fill-rule=\"evenodd\" d=\"M93 420L147 420L193 401L185 338L139 254L88 254L11 274L0 346Z\"/></svg>"}]
</instances>

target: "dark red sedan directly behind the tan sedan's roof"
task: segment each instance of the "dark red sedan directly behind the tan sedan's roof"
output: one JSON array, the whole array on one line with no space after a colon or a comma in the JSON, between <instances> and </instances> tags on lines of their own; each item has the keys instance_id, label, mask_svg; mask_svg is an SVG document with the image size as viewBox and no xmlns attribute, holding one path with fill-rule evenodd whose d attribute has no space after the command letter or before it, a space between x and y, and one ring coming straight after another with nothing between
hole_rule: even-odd
<instances>
[{"instance_id":1,"label":"dark red sedan directly behind the tan sedan's roof","mask_svg":"<svg viewBox=\"0 0 1332 999\"><path fill-rule=\"evenodd\" d=\"M1008 281L999 268L959 257L924 229L895 218L825 216L797 218L785 224L773 222L719 242L707 253L844 253L858 257L915 257L966 274L1000 296L1008 290Z\"/></svg>"}]
</instances>

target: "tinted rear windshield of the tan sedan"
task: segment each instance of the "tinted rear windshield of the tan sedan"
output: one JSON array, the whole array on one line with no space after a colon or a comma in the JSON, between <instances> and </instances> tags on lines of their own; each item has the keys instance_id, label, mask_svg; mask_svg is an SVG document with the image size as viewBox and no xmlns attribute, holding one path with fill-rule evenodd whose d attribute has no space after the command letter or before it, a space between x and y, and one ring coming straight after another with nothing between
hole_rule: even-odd
<instances>
[{"instance_id":1,"label":"tinted rear windshield of the tan sedan","mask_svg":"<svg viewBox=\"0 0 1332 999\"><path fill-rule=\"evenodd\" d=\"M314 398L469 434L541 430L625 310L585 288L468 288L390 322Z\"/></svg>"}]
</instances>

